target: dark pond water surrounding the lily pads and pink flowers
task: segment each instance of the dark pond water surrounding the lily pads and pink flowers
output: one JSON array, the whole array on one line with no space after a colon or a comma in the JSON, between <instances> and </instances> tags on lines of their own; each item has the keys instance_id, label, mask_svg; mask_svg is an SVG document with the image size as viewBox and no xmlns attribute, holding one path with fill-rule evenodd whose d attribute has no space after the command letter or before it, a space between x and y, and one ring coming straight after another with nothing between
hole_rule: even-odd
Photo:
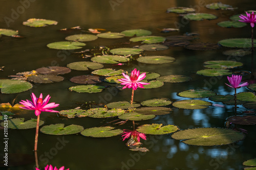
<instances>
[{"instance_id":1,"label":"dark pond water surrounding the lily pads and pink flowers","mask_svg":"<svg viewBox=\"0 0 256 170\"><path fill-rule=\"evenodd\" d=\"M0 72L1 79L7 79L9 75L15 75L17 72L31 71L44 66L67 66L67 64L77 61L90 61L90 58L82 58L79 54L73 54L69 51L53 50L46 45L51 42L65 41L65 37L73 34L80 34L81 31L61 32L59 29L80 26L83 31L90 28L102 28L111 32L122 32L131 29L145 29L152 32L155 36L183 35L192 32L200 34L199 39L192 42L210 42L226 38L250 38L249 25L243 28L221 28L217 26L220 21L228 20L233 14L240 14L246 10L256 9L256 4L252 0L245 1L222 1L233 7L238 7L234 11L209 10L204 6L216 1L1 1L0 7L0 25L1 28L18 30L19 35L24 38L2 37L0 39L1 64L5 66L4 71ZM22 2L27 2L24 5ZM29 2L29 3L28 3ZM26 8L22 8L25 6ZM170 7L192 7L196 12L210 13L217 15L214 20L187 21L182 19L176 13L166 13ZM24 9L24 10L22 10ZM20 10L17 15L13 11ZM6 21L4 18L11 20ZM31 28L22 25L23 21L29 18L44 18L58 21L56 26L45 28ZM177 28L179 32L161 33L163 28ZM82 32L87 33L87 32ZM120 39L98 38L95 41L86 42L87 45L82 48L98 49L99 46L106 46L110 49L117 47L133 47L141 45L141 42L130 42L131 37ZM159 52L143 52L142 56L159 55L171 56L176 61L168 64L143 64L132 60L129 64L122 66L113 66L104 64L104 68L124 69L131 72L134 68L141 71L157 72L164 75L185 75L192 78L191 81L184 83L165 83L160 88L138 89L135 91L134 100L141 102L144 100L156 98L168 98L171 101L184 100L177 95L178 92L188 89L208 89L218 94L233 95L233 89L225 85L226 76L223 77L203 77L196 74L200 69L205 69L203 62L209 60L229 60L222 52L228 48L221 47L213 51L192 51L183 47L169 47L168 50ZM135 58L137 58L135 56ZM232 70L251 70L250 56L232 58L242 62L242 67ZM59 104L55 110L67 110L81 107L85 102L94 101L95 103L111 103L118 101L130 101L131 89L118 90L117 93L111 93L109 90L103 90L100 93L76 93L69 91L68 88L78 85L70 82L70 78L79 75L90 75L89 71L72 70L69 74L62 75L65 80L51 84L34 84L29 91L16 94L0 94L0 103L11 103L16 101L30 100L31 92L36 95L40 93L50 94L50 102ZM244 76L248 79L250 76ZM113 86L102 82L99 85ZM111 89L111 88L110 88ZM114 90L115 91L115 90ZM249 91L243 87L237 92ZM212 102L208 98L201 100ZM212 102L215 103L215 102ZM215 104L222 104L216 102ZM136 126L144 124L163 124L176 125L181 130L192 128L219 127L225 128L225 119L234 115L232 105L223 107L210 106L206 109L178 109L173 106L167 106L173 109L170 114L159 115L150 120L143 120ZM238 113L248 110L239 105ZM25 117L26 119L35 118L33 111L23 114L17 114L16 117ZM86 128L99 127L116 118L74 118L67 119L57 116L55 113L43 112L40 119L45 121L45 125L65 124L81 125ZM112 124L109 124L112 126ZM132 129L132 122L122 126L115 126L120 129ZM150 152L133 152L126 147L125 141L122 141L121 135L109 138L84 137L80 134L55 136L39 133L38 142L38 161L39 167L45 167L46 164L52 164L60 167L72 169L242 169L242 163L245 160L256 156L255 147L255 127L241 126L248 131L244 140L222 146L201 147L187 145L179 140L172 139L169 134L166 135L147 135L147 140L142 141L143 147ZM2 132L1 132L2 133ZM8 130L9 142L8 153L17 154L15 159L25 157L22 165L11 166L3 169L35 169L33 162L33 145L35 129L29 130ZM1 139L2 141L3 139ZM1 144L2 145L2 144ZM1 151L3 152L3 151ZM19 154L19 156L18 156ZM11 158L9 159L11 164Z\"/></svg>"}]
</instances>

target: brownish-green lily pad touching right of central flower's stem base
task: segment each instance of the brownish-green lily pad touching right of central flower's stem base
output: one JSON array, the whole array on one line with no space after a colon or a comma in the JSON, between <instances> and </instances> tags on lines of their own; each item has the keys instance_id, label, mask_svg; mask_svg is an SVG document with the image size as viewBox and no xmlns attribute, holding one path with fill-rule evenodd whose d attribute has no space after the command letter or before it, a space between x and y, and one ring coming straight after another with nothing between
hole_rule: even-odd
<instances>
[{"instance_id":1,"label":"brownish-green lily pad touching right of central flower's stem base","mask_svg":"<svg viewBox=\"0 0 256 170\"><path fill-rule=\"evenodd\" d=\"M173 110L167 107L140 107L135 110L136 113L140 114L154 114L154 115L164 115L169 114Z\"/></svg>"}]
</instances>

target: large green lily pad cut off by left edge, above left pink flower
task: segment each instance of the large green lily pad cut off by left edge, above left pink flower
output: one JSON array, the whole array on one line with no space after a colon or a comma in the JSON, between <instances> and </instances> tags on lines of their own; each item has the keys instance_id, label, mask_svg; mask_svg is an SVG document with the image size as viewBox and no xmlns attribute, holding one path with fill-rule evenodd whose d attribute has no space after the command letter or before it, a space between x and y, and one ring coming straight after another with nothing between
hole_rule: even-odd
<instances>
[{"instance_id":1,"label":"large green lily pad cut off by left edge, above left pink flower","mask_svg":"<svg viewBox=\"0 0 256 170\"><path fill-rule=\"evenodd\" d=\"M0 79L1 93L12 94L27 91L32 88L32 84L20 80Z\"/></svg>"}]
</instances>

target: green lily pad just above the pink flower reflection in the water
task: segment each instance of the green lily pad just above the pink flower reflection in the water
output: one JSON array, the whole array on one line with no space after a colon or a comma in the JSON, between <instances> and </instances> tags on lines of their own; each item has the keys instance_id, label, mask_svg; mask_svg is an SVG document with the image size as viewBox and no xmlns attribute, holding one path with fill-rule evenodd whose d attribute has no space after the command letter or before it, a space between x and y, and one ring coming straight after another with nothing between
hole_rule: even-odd
<instances>
[{"instance_id":1,"label":"green lily pad just above the pink flower reflection in the water","mask_svg":"<svg viewBox=\"0 0 256 170\"><path fill-rule=\"evenodd\" d=\"M154 114L145 115L145 114L140 114L140 113L136 113L136 112L124 113L124 114L118 116L118 118L123 119L123 120L135 120L135 121L152 119L154 117L155 117Z\"/></svg>"}]
</instances>

